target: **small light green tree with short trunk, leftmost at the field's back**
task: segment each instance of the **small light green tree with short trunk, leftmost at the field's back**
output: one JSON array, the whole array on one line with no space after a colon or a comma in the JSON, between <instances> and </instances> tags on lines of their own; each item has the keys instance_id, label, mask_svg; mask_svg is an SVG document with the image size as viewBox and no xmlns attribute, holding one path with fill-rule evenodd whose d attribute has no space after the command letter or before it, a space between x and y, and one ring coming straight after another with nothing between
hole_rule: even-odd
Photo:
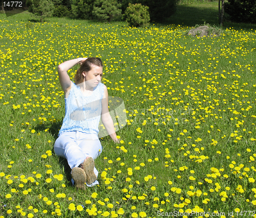
<instances>
[{"instance_id":1,"label":"small light green tree with short trunk, leftmost at the field's back","mask_svg":"<svg viewBox=\"0 0 256 218\"><path fill-rule=\"evenodd\" d=\"M41 22L43 22L46 17L52 15L54 5L50 0L29 1L31 2L29 12L33 13L35 17L40 18Z\"/></svg>"}]
</instances>

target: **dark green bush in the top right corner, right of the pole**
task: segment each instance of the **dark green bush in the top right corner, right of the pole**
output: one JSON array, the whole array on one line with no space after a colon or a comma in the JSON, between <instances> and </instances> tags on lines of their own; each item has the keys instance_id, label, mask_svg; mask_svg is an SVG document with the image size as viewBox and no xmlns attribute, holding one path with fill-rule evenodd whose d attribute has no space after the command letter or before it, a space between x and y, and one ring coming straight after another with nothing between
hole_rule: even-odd
<instances>
[{"instance_id":1,"label":"dark green bush in the top right corner, right of the pole","mask_svg":"<svg viewBox=\"0 0 256 218\"><path fill-rule=\"evenodd\" d=\"M225 12L230 21L256 24L255 0L228 0Z\"/></svg>"}]
</instances>

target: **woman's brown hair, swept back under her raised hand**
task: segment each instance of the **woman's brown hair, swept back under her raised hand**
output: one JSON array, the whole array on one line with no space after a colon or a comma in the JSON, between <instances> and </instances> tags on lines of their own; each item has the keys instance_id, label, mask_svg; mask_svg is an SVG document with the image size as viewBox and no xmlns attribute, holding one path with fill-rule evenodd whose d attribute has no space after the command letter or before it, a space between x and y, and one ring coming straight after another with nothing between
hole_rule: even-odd
<instances>
[{"instance_id":1,"label":"woman's brown hair, swept back under her raised hand","mask_svg":"<svg viewBox=\"0 0 256 218\"><path fill-rule=\"evenodd\" d=\"M82 72L89 72L92 69L92 65L96 65L98 67L103 67L102 61L99 57L89 57L86 61L84 61L79 69L76 71L76 75L74 77L75 84L80 84L83 82L84 76Z\"/></svg>"}]
</instances>

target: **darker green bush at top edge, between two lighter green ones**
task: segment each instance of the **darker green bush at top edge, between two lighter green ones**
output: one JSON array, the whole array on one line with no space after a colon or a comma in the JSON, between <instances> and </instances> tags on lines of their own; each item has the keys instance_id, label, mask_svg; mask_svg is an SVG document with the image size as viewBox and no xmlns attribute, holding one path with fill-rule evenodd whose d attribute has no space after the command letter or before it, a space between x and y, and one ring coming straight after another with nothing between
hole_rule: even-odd
<instances>
[{"instance_id":1,"label":"darker green bush at top edge, between two lighter green ones","mask_svg":"<svg viewBox=\"0 0 256 218\"><path fill-rule=\"evenodd\" d=\"M92 19L93 4L95 0L73 0L72 14L80 19Z\"/></svg>"}]
</instances>

